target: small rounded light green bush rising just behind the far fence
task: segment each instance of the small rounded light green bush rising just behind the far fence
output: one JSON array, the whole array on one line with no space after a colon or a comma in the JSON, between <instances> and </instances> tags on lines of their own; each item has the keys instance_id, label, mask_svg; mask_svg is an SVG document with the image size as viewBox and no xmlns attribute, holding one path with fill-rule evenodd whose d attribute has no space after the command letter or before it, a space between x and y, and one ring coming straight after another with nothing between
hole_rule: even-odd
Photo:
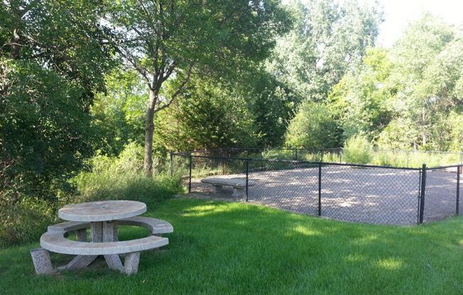
<instances>
[{"instance_id":1,"label":"small rounded light green bush rising just behind the far fence","mask_svg":"<svg viewBox=\"0 0 463 295\"><path fill-rule=\"evenodd\" d=\"M344 144L344 162L368 164L372 160L372 147L364 135L354 135Z\"/></svg>"}]
</instances>

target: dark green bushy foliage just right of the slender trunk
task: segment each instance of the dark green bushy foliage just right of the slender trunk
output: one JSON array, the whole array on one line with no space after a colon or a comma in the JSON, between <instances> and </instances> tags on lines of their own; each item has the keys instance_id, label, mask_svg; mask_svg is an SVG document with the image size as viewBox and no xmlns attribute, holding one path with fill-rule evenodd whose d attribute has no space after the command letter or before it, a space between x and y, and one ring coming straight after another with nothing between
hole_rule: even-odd
<instances>
[{"instance_id":1,"label":"dark green bushy foliage just right of the slender trunk","mask_svg":"<svg viewBox=\"0 0 463 295\"><path fill-rule=\"evenodd\" d=\"M170 151L254 146L253 122L239 91L193 77L180 100L158 116L155 143Z\"/></svg>"}]
</instances>

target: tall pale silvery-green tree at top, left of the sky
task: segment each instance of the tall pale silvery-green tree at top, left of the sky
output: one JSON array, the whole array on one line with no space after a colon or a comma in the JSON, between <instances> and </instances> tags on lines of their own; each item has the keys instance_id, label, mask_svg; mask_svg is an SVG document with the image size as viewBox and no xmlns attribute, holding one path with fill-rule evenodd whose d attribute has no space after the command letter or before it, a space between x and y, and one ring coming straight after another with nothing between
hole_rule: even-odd
<instances>
[{"instance_id":1,"label":"tall pale silvery-green tree at top, left of the sky","mask_svg":"<svg viewBox=\"0 0 463 295\"><path fill-rule=\"evenodd\" d=\"M293 30L278 39L268 71L300 99L322 101L374 45L381 13L355 0L293 1Z\"/></svg>"}]
</instances>

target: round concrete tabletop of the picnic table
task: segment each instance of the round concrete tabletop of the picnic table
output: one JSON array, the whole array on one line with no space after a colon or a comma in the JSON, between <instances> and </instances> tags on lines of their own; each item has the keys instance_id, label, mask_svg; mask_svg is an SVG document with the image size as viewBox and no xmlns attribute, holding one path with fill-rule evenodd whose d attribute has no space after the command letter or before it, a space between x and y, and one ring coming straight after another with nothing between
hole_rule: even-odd
<instances>
[{"instance_id":1,"label":"round concrete tabletop of the picnic table","mask_svg":"<svg viewBox=\"0 0 463 295\"><path fill-rule=\"evenodd\" d=\"M138 201L95 201L67 205L58 210L65 221L115 221L146 212L146 204Z\"/></svg>"}]
</instances>

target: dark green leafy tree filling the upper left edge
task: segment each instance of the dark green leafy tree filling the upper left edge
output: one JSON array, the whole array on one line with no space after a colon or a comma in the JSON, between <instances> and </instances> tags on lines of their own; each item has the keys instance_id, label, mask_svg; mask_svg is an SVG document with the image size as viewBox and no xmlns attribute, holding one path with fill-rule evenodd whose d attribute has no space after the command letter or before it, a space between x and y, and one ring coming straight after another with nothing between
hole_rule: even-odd
<instances>
[{"instance_id":1,"label":"dark green leafy tree filling the upper left edge","mask_svg":"<svg viewBox=\"0 0 463 295\"><path fill-rule=\"evenodd\" d=\"M0 3L0 192L56 190L92 154L89 106L111 67L94 1Z\"/></svg>"}]
</instances>

